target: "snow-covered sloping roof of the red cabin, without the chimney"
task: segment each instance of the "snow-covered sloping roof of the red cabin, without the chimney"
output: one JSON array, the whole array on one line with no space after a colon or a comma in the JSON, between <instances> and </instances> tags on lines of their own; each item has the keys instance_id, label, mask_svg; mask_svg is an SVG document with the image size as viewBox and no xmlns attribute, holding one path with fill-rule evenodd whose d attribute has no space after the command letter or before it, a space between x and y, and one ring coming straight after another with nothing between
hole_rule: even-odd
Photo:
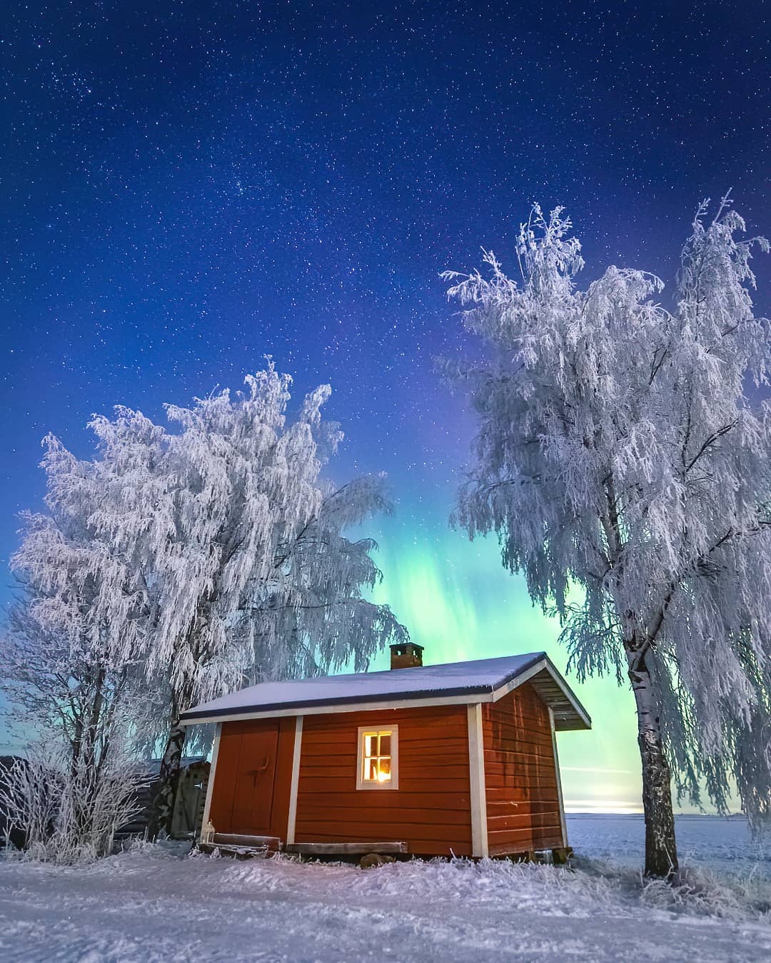
<instances>
[{"instance_id":1,"label":"snow-covered sloping roof of the red cabin, without the chimney","mask_svg":"<svg viewBox=\"0 0 771 963\"><path fill-rule=\"evenodd\" d=\"M554 714L556 729L590 729L592 720L545 652L416 665L385 672L263 682L183 713L183 725L270 716L302 716L413 705L495 702L529 682Z\"/></svg>"}]
</instances>

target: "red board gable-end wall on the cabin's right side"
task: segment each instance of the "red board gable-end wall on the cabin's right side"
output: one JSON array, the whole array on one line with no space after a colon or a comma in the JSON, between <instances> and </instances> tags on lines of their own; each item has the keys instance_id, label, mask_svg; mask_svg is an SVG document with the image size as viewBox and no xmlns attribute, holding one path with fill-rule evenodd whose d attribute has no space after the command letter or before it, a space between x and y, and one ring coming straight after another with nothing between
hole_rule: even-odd
<instances>
[{"instance_id":1,"label":"red board gable-end wall on the cabin's right side","mask_svg":"<svg viewBox=\"0 0 771 963\"><path fill-rule=\"evenodd\" d=\"M482 707L491 856L562 846L548 709L528 684Z\"/></svg>"}]
</instances>

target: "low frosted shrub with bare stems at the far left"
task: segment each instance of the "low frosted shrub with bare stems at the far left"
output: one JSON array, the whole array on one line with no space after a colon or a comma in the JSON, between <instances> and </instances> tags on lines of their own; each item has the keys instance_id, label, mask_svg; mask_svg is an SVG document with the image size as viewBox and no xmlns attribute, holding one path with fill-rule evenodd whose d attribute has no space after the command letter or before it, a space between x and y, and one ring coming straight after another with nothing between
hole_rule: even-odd
<instances>
[{"instance_id":1,"label":"low frosted shrub with bare stems at the far left","mask_svg":"<svg viewBox=\"0 0 771 963\"><path fill-rule=\"evenodd\" d=\"M108 855L121 825L138 811L148 784L135 759L120 749L100 767L70 753L33 745L0 773L0 813L7 835L24 838L26 858L57 864Z\"/></svg>"}]
</instances>

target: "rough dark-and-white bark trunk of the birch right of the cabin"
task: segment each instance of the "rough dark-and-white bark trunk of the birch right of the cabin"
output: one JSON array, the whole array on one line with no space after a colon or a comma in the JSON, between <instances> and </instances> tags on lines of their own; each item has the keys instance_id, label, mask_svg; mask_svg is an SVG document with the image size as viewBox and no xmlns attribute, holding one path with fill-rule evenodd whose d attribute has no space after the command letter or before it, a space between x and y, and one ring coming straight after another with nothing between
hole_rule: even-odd
<instances>
[{"instance_id":1,"label":"rough dark-and-white bark trunk of the birch right of the cabin","mask_svg":"<svg viewBox=\"0 0 771 963\"><path fill-rule=\"evenodd\" d=\"M671 772L664 752L651 673L643 657L629 655L629 679L637 704L637 742L643 764L645 874L671 878L678 872Z\"/></svg>"}]
</instances>

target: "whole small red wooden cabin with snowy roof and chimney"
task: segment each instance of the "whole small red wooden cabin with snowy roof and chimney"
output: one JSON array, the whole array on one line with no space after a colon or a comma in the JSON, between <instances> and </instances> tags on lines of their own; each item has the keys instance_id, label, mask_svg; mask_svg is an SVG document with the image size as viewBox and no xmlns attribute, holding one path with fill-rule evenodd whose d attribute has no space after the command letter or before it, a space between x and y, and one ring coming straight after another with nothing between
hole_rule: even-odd
<instances>
[{"instance_id":1,"label":"whole small red wooden cabin with snowy roof and chimney","mask_svg":"<svg viewBox=\"0 0 771 963\"><path fill-rule=\"evenodd\" d=\"M189 709L216 722L216 839L307 853L497 856L568 845L555 733L591 720L544 652L269 682Z\"/></svg>"}]
</instances>

